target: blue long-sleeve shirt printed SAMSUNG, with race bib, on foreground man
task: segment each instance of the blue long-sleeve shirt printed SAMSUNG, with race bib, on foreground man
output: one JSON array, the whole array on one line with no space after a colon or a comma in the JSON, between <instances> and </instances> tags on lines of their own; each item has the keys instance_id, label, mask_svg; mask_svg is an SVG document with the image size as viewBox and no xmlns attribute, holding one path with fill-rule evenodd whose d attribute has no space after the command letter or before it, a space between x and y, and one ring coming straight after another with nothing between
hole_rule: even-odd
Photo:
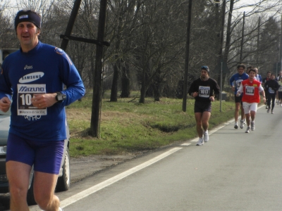
<instances>
[{"instance_id":1,"label":"blue long-sleeve shirt printed SAMSUNG, with race bib, on foreground man","mask_svg":"<svg viewBox=\"0 0 282 211\"><path fill-rule=\"evenodd\" d=\"M63 90L63 84L66 89ZM66 94L66 100L49 108L32 105L33 94ZM48 44L8 55L0 74L0 98L12 97L10 133L32 141L66 139L65 106L85 94L82 79L68 55Z\"/></svg>"}]
</instances>

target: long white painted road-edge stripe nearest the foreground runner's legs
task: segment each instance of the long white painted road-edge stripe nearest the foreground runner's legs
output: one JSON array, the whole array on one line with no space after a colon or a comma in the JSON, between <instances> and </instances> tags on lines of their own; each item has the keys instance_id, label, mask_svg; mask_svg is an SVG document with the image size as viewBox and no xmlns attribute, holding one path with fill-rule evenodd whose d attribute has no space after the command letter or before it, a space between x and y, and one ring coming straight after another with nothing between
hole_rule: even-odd
<instances>
[{"instance_id":1,"label":"long white painted road-edge stripe nearest the foreground runner's legs","mask_svg":"<svg viewBox=\"0 0 282 211\"><path fill-rule=\"evenodd\" d=\"M155 162L158 162L159 160L163 158L166 158L168 155L171 155L172 153L175 153L176 151L179 151L180 149L181 149L180 147L172 148L170 151L167 151L166 153L162 153L161 155L157 156L156 158L148 160L147 162L143 162L142 164L137 165L136 167L133 167L130 170L127 170L121 174L118 174L115 177L111 177L110 179L107 179L106 181L102 181L101 183L95 186L92 186L91 188L88 188L85 191L81 191L80 193L77 193L74 196L71 196L70 198L66 198L65 200L61 201L60 206L66 207L68 205L71 205L75 203L76 201L82 198L85 198L89 196L90 194L101 190L102 188L105 188L106 186L114 184L116 181L119 181L125 177L128 177L130 174L133 174L139 170L144 169L145 167L148 167L149 165L152 165Z\"/></svg>"}]
</instances>

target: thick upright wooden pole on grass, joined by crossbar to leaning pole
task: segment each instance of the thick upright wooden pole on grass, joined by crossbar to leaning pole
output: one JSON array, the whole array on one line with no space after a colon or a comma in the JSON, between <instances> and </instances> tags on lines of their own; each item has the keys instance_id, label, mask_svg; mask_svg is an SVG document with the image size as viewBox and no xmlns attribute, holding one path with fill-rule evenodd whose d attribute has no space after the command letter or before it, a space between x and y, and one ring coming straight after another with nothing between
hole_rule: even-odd
<instances>
[{"instance_id":1,"label":"thick upright wooden pole on grass, joined by crossbar to leaning pole","mask_svg":"<svg viewBox=\"0 0 282 211\"><path fill-rule=\"evenodd\" d=\"M106 6L107 0L100 1L99 23L98 23L98 41L104 40L105 25L106 25ZM93 78L93 96L92 96L92 115L90 124L90 136L99 138L99 124L102 103L102 58L104 54L104 46L97 45L96 60Z\"/></svg>"}]
</instances>

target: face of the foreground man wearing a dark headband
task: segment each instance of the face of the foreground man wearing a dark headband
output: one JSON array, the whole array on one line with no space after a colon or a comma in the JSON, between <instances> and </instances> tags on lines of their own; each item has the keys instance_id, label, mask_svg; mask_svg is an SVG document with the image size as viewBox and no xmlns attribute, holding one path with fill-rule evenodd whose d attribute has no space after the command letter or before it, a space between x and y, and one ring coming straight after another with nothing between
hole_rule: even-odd
<instances>
[{"instance_id":1,"label":"face of the foreground man wearing a dark headband","mask_svg":"<svg viewBox=\"0 0 282 211\"><path fill-rule=\"evenodd\" d=\"M31 22L21 22L17 26L17 37L22 49L31 50L38 44L39 30Z\"/></svg>"}]
</instances>

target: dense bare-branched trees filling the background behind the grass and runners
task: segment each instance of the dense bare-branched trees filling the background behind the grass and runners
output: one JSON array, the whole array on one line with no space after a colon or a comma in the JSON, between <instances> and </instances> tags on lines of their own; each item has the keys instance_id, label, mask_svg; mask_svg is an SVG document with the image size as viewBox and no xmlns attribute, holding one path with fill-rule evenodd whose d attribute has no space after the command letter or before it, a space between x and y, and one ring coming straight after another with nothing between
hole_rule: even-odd
<instances>
[{"instance_id":1,"label":"dense bare-branched trees filling the background behind the grass and runners","mask_svg":"<svg viewBox=\"0 0 282 211\"><path fill-rule=\"evenodd\" d=\"M82 0L72 36L97 39L99 3ZM208 65L211 77L219 82L215 70L219 58L229 68L223 75L223 90L230 87L228 79L239 63L257 67L262 77L267 71L276 73L276 63L281 62L282 1L251 3L227 0L223 7L222 1L192 1L188 87L200 76L202 65ZM60 46L73 4L69 0L2 0L0 49L19 48L14 17L22 8L42 15L39 39ZM104 46L103 90L111 90L110 101L140 90L145 90L140 98L150 96L155 101L163 96L182 98L187 17L187 0L108 0L104 41L111 46ZM66 52L85 87L92 89L96 45L69 41Z\"/></svg>"}]
</instances>

